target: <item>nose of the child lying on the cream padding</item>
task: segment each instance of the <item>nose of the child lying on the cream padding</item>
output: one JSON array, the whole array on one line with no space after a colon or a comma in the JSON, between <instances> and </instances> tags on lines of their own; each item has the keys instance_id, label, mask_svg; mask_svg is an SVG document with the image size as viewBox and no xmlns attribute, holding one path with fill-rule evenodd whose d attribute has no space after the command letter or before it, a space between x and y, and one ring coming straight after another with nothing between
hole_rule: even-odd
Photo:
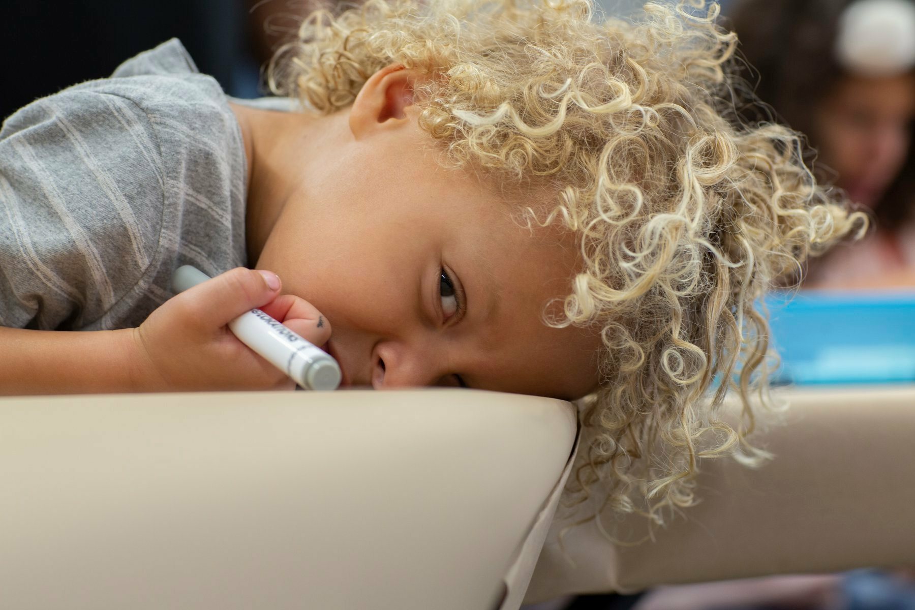
<instances>
[{"instance_id":1,"label":"nose of the child lying on the cream padding","mask_svg":"<svg viewBox=\"0 0 915 610\"><path fill-rule=\"evenodd\" d=\"M375 390L442 385L447 377L440 348L382 342L372 353L371 386Z\"/></svg>"}]
</instances>

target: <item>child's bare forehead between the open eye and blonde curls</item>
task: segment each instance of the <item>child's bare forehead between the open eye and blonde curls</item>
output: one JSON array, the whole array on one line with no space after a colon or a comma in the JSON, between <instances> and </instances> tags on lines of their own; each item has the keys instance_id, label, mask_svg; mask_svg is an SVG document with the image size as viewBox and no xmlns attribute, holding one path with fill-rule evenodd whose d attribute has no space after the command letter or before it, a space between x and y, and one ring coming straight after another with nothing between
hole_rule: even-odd
<instances>
[{"instance_id":1,"label":"child's bare forehead between the open eye and blonde curls","mask_svg":"<svg viewBox=\"0 0 915 610\"><path fill-rule=\"evenodd\" d=\"M470 218L445 252L460 265L468 294L467 332L477 355L468 383L566 399L591 391L599 335L544 321L563 319L563 300L581 266L576 235L526 223L524 206L494 190L480 190L468 208Z\"/></svg>"}]
</instances>

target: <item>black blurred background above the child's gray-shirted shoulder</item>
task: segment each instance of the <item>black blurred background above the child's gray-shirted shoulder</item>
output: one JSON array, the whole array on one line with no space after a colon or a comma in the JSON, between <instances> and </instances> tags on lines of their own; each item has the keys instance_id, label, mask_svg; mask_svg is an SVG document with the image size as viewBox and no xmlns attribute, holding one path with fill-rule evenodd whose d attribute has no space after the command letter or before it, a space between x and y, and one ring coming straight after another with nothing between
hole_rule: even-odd
<instances>
[{"instance_id":1,"label":"black blurred background above the child's gray-shirted shoulder","mask_svg":"<svg viewBox=\"0 0 915 610\"><path fill-rule=\"evenodd\" d=\"M238 97L258 91L247 0L4 0L0 117L179 37L201 72ZM252 3L253 4L253 3Z\"/></svg>"}]
</instances>

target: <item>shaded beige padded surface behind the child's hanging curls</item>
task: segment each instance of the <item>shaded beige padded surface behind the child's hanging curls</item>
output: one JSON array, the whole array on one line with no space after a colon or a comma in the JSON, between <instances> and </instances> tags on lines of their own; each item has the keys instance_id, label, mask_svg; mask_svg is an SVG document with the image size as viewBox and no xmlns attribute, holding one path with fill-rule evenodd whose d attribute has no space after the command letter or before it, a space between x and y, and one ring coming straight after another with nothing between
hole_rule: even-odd
<instances>
[{"instance_id":1,"label":"shaded beige padded surface behind the child's hanging curls","mask_svg":"<svg viewBox=\"0 0 915 610\"><path fill-rule=\"evenodd\" d=\"M613 544L593 524L556 519L527 601L565 593L638 591L662 583L915 564L915 386L777 392L788 425L762 443L776 457L752 470L705 460L701 502L654 540ZM584 447L579 455L585 455ZM629 540L645 519L609 524Z\"/></svg>"}]
</instances>

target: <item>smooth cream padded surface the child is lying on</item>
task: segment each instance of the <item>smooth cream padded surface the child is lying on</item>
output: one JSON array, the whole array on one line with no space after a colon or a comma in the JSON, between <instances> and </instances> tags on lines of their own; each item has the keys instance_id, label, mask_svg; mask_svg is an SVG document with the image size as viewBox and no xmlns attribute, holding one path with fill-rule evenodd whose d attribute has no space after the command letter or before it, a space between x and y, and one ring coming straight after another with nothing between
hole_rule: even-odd
<instances>
[{"instance_id":1,"label":"smooth cream padded surface the child is lying on","mask_svg":"<svg viewBox=\"0 0 915 610\"><path fill-rule=\"evenodd\" d=\"M0 400L2 606L494 607L575 433L481 391Z\"/></svg>"}]
</instances>

